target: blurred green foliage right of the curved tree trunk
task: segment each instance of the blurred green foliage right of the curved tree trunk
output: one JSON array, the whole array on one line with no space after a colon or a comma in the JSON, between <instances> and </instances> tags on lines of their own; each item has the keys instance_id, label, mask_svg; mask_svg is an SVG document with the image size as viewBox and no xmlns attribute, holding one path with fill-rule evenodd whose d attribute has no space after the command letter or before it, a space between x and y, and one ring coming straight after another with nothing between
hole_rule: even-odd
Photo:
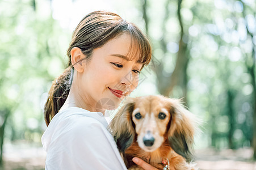
<instances>
[{"instance_id":1,"label":"blurred green foliage right of the curved tree trunk","mask_svg":"<svg viewBox=\"0 0 256 170\"><path fill-rule=\"evenodd\" d=\"M255 34L256 3L213 1L197 2L194 6L194 23L188 29L192 58L188 66L190 104L202 101L200 107L206 111L205 121L209 123L208 145L250 147L255 79L248 72L247 63L255 67L255 41L247 33L246 19L253 17L250 24L254 25ZM207 15L205 10L209 11ZM198 95L194 89L198 89Z\"/></svg>"}]
</instances>

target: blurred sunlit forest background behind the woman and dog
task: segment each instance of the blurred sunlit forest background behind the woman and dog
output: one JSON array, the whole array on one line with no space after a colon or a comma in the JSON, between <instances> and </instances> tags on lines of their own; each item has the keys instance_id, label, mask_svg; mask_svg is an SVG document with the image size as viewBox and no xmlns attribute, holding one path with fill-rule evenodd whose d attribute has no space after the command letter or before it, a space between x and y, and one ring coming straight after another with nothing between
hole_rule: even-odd
<instances>
[{"instance_id":1,"label":"blurred sunlit forest background behind the woman and dog","mask_svg":"<svg viewBox=\"0 0 256 170\"><path fill-rule=\"evenodd\" d=\"M256 169L255 0L0 0L0 169L44 169L44 103L95 10L149 36L153 59L131 96L183 98L203 121L200 169Z\"/></svg>"}]
</instances>

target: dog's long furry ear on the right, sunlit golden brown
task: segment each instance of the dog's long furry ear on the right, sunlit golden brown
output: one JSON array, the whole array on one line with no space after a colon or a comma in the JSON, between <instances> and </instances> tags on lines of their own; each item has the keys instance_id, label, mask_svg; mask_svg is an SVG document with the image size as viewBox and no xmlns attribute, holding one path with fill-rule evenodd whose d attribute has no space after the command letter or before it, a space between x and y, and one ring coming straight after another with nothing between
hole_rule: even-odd
<instances>
[{"instance_id":1,"label":"dog's long furry ear on the right, sunlit golden brown","mask_svg":"<svg viewBox=\"0 0 256 170\"><path fill-rule=\"evenodd\" d=\"M177 154L190 161L194 134L197 129L196 117L187 111L179 100L174 99L171 99L170 113L169 145Z\"/></svg>"}]
</instances>

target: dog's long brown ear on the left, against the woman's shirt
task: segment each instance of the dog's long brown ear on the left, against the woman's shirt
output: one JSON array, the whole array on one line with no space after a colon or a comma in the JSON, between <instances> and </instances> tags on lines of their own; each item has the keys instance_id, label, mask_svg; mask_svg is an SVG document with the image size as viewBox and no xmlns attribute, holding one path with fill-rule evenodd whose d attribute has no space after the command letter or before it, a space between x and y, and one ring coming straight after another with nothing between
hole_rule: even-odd
<instances>
[{"instance_id":1,"label":"dog's long brown ear on the left, against the woman's shirt","mask_svg":"<svg viewBox=\"0 0 256 170\"><path fill-rule=\"evenodd\" d=\"M135 129L132 122L132 112L135 103L129 100L121 107L119 112L116 113L115 117L110 122L110 129L112 135L116 141L117 148L121 153L131 146L135 137Z\"/></svg>"}]
</instances>

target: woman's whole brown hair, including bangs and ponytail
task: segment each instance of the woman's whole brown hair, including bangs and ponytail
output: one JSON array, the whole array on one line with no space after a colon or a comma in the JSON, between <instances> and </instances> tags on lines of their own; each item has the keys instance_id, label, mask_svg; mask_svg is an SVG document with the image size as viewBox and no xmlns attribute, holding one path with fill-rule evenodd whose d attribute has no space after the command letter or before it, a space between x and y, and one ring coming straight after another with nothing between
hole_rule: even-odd
<instances>
[{"instance_id":1,"label":"woman's whole brown hair, including bangs and ponytail","mask_svg":"<svg viewBox=\"0 0 256 170\"><path fill-rule=\"evenodd\" d=\"M72 41L67 51L69 57L67 69L53 81L45 103L44 118L47 126L65 103L70 91L73 78L73 65L70 55L72 48L80 48L86 56L86 61L89 61L95 48L103 46L106 42L124 32L129 33L132 40L139 46L140 57L138 62L142 63L142 67L148 65L152 49L148 38L135 24L129 23L119 15L108 11L94 11L81 20L73 32Z\"/></svg>"}]
</instances>

